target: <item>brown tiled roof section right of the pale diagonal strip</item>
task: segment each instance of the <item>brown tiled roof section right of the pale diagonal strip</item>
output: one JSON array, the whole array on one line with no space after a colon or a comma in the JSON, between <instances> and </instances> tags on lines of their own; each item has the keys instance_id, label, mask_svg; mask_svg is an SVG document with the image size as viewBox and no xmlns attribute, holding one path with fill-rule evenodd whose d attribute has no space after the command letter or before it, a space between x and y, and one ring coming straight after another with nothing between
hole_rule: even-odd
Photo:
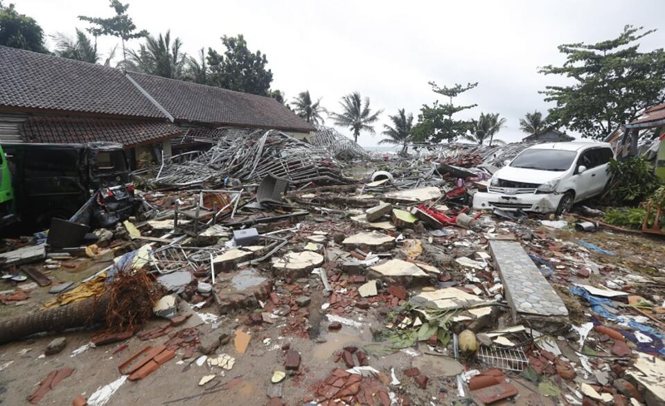
<instances>
[{"instance_id":1,"label":"brown tiled roof section right of the pale diagonal strip","mask_svg":"<svg viewBox=\"0 0 665 406\"><path fill-rule=\"evenodd\" d=\"M315 131L312 125L274 98L145 73L128 72L127 75L136 80L176 121Z\"/></svg>"}]
</instances>

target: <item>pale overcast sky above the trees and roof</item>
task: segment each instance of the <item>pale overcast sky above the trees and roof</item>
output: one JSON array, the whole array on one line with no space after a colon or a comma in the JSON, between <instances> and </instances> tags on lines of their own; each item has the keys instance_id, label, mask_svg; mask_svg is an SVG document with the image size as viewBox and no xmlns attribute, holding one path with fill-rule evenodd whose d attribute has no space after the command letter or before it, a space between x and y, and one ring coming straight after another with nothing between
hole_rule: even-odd
<instances>
[{"instance_id":1,"label":"pale overcast sky above the trees and roof","mask_svg":"<svg viewBox=\"0 0 665 406\"><path fill-rule=\"evenodd\" d=\"M109 17L106 0L4 0L37 20L48 35L86 28L78 15ZM203 1L132 0L129 15L152 34L170 29L187 53L202 47L223 51L222 35L245 35L251 50L267 55L272 87L288 99L309 89L332 111L339 98L360 91L371 107L384 109L377 134L360 144L376 145L388 114L405 108L417 117L436 100L427 82L479 82L458 99L478 107L460 114L498 112L506 128L497 138L525 134L525 112L547 110L539 90L561 80L538 73L561 64L559 44L617 37L625 24L665 28L665 1ZM115 38L100 39L107 52ZM665 30L644 38L642 50L662 47ZM139 40L130 42L138 46ZM49 40L49 47L53 42ZM326 121L326 124L330 124ZM351 136L349 130L338 128Z\"/></svg>"}]
</instances>

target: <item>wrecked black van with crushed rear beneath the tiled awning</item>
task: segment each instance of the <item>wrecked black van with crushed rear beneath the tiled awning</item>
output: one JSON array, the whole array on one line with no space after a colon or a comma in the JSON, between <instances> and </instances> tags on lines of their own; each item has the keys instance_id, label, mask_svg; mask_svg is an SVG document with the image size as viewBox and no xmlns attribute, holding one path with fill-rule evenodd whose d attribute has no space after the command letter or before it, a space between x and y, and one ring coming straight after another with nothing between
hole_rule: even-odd
<instances>
[{"instance_id":1,"label":"wrecked black van with crushed rear beneath the tiled awning","mask_svg":"<svg viewBox=\"0 0 665 406\"><path fill-rule=\"evenodd\" d=\"M24 227L52 218L108 227L134 211L134 185L123 145L4 143L15 214ZM85 209L82 210L82 207Z\"/></svg>"}]
</instances>

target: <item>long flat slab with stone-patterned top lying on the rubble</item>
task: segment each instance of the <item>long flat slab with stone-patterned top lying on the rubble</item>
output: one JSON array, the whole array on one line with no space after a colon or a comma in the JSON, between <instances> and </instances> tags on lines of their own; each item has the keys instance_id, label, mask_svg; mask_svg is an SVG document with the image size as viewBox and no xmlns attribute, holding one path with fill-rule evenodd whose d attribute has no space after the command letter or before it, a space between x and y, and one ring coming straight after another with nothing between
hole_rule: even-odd
<instances>
[{"instance_id":1,"label":"long flat slab with stone-patterned top lying on the rubble","mask_svg":"<svg viewBox=\"0 0 665 406\"><path fill-rule=\"evenodd\" d=\"M568 316L565 304L531 261L520 242L491 240L490 251L515 321L525 315Z\"/></svg>"}]
</instances>

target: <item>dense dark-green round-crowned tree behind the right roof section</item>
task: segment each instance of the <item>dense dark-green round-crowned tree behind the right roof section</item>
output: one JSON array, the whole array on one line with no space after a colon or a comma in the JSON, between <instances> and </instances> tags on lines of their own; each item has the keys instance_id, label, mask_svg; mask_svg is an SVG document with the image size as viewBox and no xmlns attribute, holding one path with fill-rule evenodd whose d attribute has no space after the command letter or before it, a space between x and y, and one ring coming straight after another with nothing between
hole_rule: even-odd
<instances>
[{"instance_id":1,"label":"dense dark-green round-crowned tree behind the right roof section","mask_svg":"<svg viewBox=\"0 0 665 406\"><path fill-rule=\"evenodd\" d=\"M268 96L272 71L266 69L268 60L261 51L249 51L245 37L222 37L227 48L223 54L208 48L210 84L224 89Z\"/></svg>"}]
</instances>

